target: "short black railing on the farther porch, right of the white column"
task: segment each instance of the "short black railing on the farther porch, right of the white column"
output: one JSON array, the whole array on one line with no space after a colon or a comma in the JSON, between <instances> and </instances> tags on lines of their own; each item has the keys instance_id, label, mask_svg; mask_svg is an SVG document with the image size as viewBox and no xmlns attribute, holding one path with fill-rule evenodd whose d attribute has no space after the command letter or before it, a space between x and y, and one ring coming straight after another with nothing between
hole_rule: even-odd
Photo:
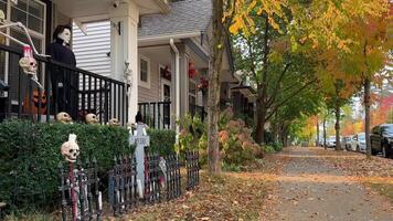
<instances>
[{"instance_id":1,"label":"short black railing on the farther porch, right of the white column","mask_svg":"<svg viewBox=\"0 0 393 221\"><path fill-rule=\"evenodd\" d=\"M139 103L138 109L142 122L151 128L171 128L171 102L146 102Z\"/></svg>"}]
</instances>

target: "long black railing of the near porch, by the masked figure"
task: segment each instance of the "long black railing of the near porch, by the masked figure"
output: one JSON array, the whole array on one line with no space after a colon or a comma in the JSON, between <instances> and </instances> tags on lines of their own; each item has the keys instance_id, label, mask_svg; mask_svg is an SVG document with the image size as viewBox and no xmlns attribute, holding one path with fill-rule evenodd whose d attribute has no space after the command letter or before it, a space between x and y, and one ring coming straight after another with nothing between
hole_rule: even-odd
<instances>
[{"instance_id":1,"label":"long black railing of the near porch, by the masked figure","mask_svg":"<svg viewBox=\"0 0 393 221\"><path fill-rule=\"evenodd\" d=\"M0 44L0 67L6 72L3 64L7 64L9 84L4 116L50 122L59 112L66 112L74 120L83 120L93 113L100 123L110 118L123 125L127 123L128 85L51 59L35 57L42 91L19 67L21 57L21 50Z\"/></svg>"}]
</instances>

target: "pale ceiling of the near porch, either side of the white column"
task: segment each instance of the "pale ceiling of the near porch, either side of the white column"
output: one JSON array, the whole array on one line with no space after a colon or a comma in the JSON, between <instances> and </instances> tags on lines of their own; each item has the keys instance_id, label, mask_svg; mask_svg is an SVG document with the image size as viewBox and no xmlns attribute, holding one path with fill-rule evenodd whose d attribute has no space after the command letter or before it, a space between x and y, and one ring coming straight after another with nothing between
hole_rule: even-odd
<instances>
[{"instance_id":1,"label":"pale ceiling of the near porch, either side of the white column","mask_svg":"<svg viewBox=\"0 0 393 221\"><path fill-rule=\"evenodd\" d=\"M115 0L52 0L57 4L59 11L70 18L86 18L86 17L107 17L108 9ZM123 0L127 1L127 0ZM158 3L162 0L129 0L135 2L139 8L139 14L167 12L162 6ZM121 1L120 1L121 2Z\"/></svg>"}]
</instances>

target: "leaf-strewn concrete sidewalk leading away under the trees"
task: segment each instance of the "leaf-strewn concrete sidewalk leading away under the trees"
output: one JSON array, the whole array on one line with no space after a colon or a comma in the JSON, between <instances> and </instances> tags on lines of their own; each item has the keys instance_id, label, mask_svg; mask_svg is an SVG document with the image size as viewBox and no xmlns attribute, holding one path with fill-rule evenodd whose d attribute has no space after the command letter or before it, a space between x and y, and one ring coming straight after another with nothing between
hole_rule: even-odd
<instances>
[{"instance_id":1,"label":"leaf-strewn concrete sidewalk leading away under the trees","mask_svg":"<svg viewBox=\"0 0 393 221\"><path fill-rule=\"evenodd\" d=\"M384 198L334 169L326 156L304 147L280 155L289 161L276 178L275 215L269 220L393 221Z\"/></svg>"}]
</instances>

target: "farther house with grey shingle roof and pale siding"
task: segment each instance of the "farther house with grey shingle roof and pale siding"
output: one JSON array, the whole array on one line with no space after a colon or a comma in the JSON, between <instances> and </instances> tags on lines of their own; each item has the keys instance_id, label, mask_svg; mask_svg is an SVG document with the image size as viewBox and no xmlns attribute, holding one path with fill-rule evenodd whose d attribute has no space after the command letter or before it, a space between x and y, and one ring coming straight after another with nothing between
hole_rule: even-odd
<instances>
[{"instance_id":1,"label":"farther house with grey shingle roof and pale siding","mask_svg":"<svg viewBox=\"0 0 393 221\"><path fill-rule=\"evenodd\" d=\"M198 9L198 10L195 10ZM138 103L139 110L149 125L173 128L174 117L187 113L206 113L209 38L211 28L211 0L182 0L170 3L169 13L141 15L138 24ZM77 63L83 69L97 71L97 65L86 51L93 51L105 60L100 73L110 75L109 56L111 22L86 23L87 35L74 25L74 49ZM97 41L103 41L96 45ZM104 42L105 41L105 42ZM103 48L107 51L103 51ZM233 61L227 42L223 56L222 98L230 98L229 82L237 82L233 75ZM105 65L105 67L104 67ZM224 102L223 102L224 103Z\"/></svg>"}]
</instances>

